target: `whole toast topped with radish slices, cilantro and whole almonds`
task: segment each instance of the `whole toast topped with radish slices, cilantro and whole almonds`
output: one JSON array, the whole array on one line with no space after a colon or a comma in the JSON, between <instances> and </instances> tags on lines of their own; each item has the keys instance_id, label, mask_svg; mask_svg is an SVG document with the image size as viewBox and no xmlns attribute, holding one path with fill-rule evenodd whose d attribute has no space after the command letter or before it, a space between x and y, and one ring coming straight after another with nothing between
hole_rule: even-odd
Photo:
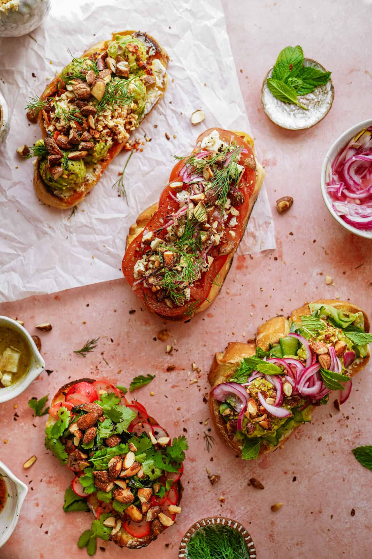
<instances>
[{"instance_id":1,"label":"whole toast topped with radish slices, cilantro and whole almonds","mask_svg":"<svg viewBox=\"0 0 372 559\"><path fill-rule=\"evenodd\" d=\"M185 437L171 442L142 404L107 380L82 378L61 387L49 409L45 446L74 472L75 499L96 518L78 544L89 555L95 533L139 549L181 512Z\"/></svg>"}]
</instances>

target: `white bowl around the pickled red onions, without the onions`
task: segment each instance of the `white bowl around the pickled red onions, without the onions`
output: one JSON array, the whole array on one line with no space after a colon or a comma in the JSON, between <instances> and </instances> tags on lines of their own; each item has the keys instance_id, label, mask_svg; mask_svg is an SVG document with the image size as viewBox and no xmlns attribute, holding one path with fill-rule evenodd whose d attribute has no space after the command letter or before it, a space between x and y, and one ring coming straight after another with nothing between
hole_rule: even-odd
<instances>
[{"instance_id":1,"label":"white bowl around the pickled red onions, without the onions","mask_svg":"<svg viewBox=\"0 0 372 559\"><path fill-rule=\"evenodd\" d=\"M342 225L344 229L350 231L350 233L354 233L354 235L359 235L360 237L364 237L365 239L372 239L372 230L361 231L360 229L356 229L352 225L346 223L346 221L344 221L340 216L338 216L335 213L335 210L332 208L332 198L328 194L327 187L326 187L326 168L327 168L327 163L328 162L330 164L332 163L332 161L335 159L336 155L340 152L340 150L344 148L344 146L351 140L353 136L355 136L357 132L359 132L363 128L368 128L369 126L372 126L372 119L359 122L359 124L356 124L352 128L349 128L349 130L346 130L344 134L341 134L341 136L337 138L337 140L331 145L330 149L328 149L327 155L323 161L322 172L320 176L320 188L328 212L330 212L331 216L337 221L337 223Z\"/></svg>"}]
</instances>

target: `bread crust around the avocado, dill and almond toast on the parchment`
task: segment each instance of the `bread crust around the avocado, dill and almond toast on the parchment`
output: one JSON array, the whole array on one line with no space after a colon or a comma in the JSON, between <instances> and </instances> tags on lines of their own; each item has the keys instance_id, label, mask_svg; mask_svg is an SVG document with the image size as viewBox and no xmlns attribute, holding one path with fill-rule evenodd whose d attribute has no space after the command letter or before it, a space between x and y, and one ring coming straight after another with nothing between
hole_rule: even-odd
<instances>
[{"instance_id":1,"label":"bread crust around the avocado, dill and almond toast on the parchment","mask_svg":"<svg viewBox=\"0 0 372 559\"><path fill-rule=\"evenodd\" d=\"M91 46L89 49L85 50L82 58L88 57L94 53L104 52L108 48L108 44L111 40L114 40L115 35L132 35L135 31L134 30L127 30L127 31L117 31L112 34L112 39L109 41L100 41L97 42L95 45ZM144 36L147 37L149 41L151 41L156 48L158 53L159 59L163 66L167 68L169 56L165 49L162 48L158 44L158 42L151 36L146 33L143 33ZM59 75L57 75L49 85L45 88L45 91L41 95L41 99L45 99L46 97L51 96L55 93L57 88ZM156 103L152 106L151 110L143 117L142 120L146 119L147 116L151 113L154 107L156 107L157 103L162 99L164 93L167 89L167 75L165 78L165 84L162 88L159 88L161 91L161 96L158 98ZM149 86L151 87L151 86ZM44 126L44 119L42 117L42 112L40 111L38 114L38 122L40 124L42 137L46 138L46 130ZM141 121L142 122L142 121ZM76 206L79 202L84 200L85 196L91 191L91 189L95 186L95 184L99 181L102 176L104 170L108 167L108 165L113 161L113 159L122 151L124 148L125 143L114 142L111 148L108 150L108 153L105 155L103 160L96 163L94 165L94 172L89 174L89 178L85 178L83 183L79 185L79 191L73 191L69 197L62 198L60 196L56 196L52 189L43 181L41 174L40 174L40 162L37 159L35 163L35 167L33 169L33 188L36 192L36 195L42 202L44 202L47 206L52 206L59 208L60 210L67 210L71 209L72 207ZM93 166L92 166L93 167ZM93 177L93 178L92 178Z\"/></svg>"}]
</instances>

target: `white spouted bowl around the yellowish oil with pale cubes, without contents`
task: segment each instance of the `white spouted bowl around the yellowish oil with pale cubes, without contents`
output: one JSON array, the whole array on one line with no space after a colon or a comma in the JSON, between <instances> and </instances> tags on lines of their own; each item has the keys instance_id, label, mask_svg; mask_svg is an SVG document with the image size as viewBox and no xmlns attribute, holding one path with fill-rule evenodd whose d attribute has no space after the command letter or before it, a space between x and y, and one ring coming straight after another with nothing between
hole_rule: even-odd
<instances>
[{"instance_id":1,"label":"white spouted bowl around the yellowish oil with pale cubes, without contents","mask_svg":"<svg viewBox=\"0 0 372 559\"><path fill-rule=\"evenodd\" d=\"M7 316L0 316L0 326L11 326L11 328L17 330L22 337L26 339L31 349L31 364L26 375L23 375L11 386L6 386L5 388L0 389L0 404L2 404L2 402L7 402L8 400L16 398L22 394L23 390L26 390L26 388L30 386L31 382L35 380L42 371L44 371L45 361L38 352L35 342L31 338L30 334L28 334L27 330L23 328L21 324L11 318L8 318Z\"/></svg>"}]
</instances>

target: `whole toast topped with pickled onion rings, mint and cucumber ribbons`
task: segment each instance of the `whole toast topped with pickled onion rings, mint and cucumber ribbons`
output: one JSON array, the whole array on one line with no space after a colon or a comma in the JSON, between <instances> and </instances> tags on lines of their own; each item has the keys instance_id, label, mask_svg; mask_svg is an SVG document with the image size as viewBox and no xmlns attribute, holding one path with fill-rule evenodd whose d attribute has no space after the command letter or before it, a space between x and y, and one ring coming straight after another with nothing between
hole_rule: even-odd
<instances>
[{"instance_id":1,"label":"whole toast topped with pickled onion rings, mint and cucumber ribbons","mask_svg":"<svg viewBox=\"0 0 372 559\"><path fill-rule=\"evenodd\" d=\"M370 358L369 319L347 301L318 300L261 324L255 340L229 343L209 372L210 409L226 444L253 459L282 446L312 411L350 395Z\"/></svg>"}]
</instances>

